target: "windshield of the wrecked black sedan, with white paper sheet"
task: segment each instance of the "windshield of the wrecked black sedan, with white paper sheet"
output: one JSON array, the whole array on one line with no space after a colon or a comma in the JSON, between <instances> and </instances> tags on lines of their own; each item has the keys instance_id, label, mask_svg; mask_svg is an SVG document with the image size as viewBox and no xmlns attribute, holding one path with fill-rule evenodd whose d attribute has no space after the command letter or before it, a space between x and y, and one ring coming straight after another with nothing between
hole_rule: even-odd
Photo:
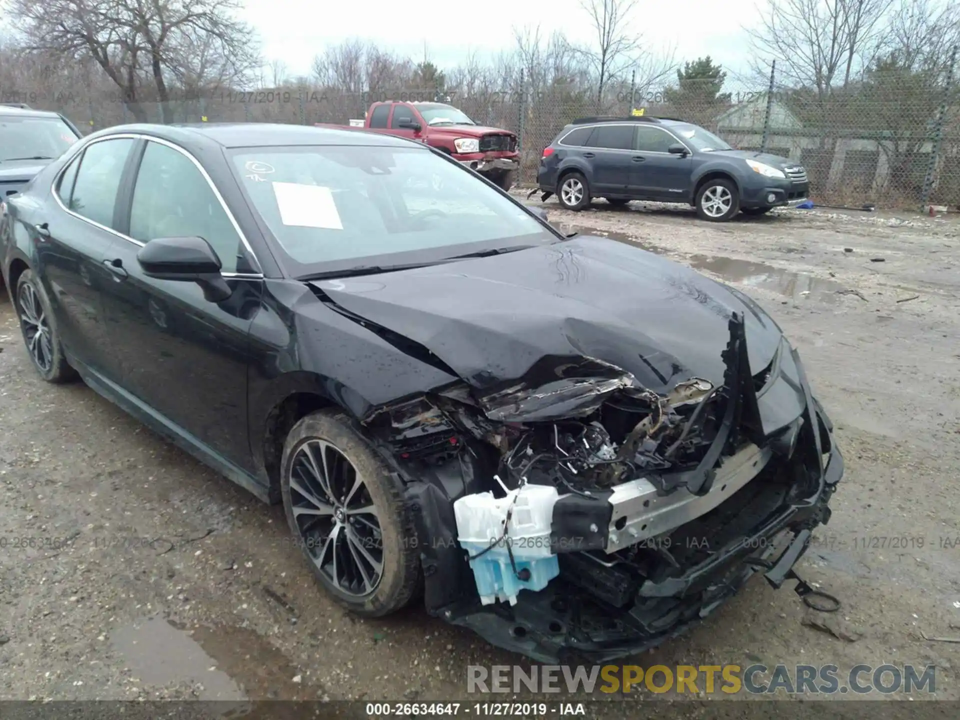
<instances>
[{"instance_id":1,"label":"windshield of the wrecked black sedan, with white paper sheet","mask_svg":"<svg viewBox=\"0 0 960 720\"><path fill-rule=\"evenodd\" d=\"M292 276L557 242L522 206L423 148L242 148L235 172Z\"/></svg>"}]
</instances>

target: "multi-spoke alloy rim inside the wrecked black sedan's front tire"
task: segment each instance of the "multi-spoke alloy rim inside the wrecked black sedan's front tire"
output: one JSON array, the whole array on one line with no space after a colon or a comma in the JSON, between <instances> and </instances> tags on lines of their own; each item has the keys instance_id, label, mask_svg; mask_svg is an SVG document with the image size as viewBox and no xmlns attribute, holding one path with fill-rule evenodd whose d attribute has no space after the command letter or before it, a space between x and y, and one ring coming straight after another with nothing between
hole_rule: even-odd
<instances>
[{"instance_id":1,"label":"multi-spoke alloy rim inside the wrecked black sedan's front tire","mask_svg":"<svg viewBox=\"0 0 960 720\"><path fill-rule=\"evenodd\" d=\"M311 439L290 466L290 501L300 540L339 591L369 595L383 576L383 533L370 491L336 446Z\"/></svg>"}]
</instances>

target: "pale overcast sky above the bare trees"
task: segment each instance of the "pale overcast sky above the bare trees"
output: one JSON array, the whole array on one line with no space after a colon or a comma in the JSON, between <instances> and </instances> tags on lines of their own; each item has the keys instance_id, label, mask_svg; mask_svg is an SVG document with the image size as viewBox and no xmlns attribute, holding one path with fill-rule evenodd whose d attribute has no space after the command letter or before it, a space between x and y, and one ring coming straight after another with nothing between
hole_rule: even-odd
<instances>
[{"instance_id":1,"label":"pale overcast sky above the bare trees","mask_svg":"<svg viewBox=\"0 0 960 720\"><path fill-rule=\"evenodd\" d=\"M632 25L653 47L673 46L677 60L709 55L736 72L749 69L743 25L756 18L757 0L639 0ZM760 0L763 2L763 0ZM574 42L593 40L578 0L480 0L472 3L246 0L246 19L263 40L267 60L308 75L325 44L371 39L420 60L453 66L469 51L481 57L514 46L513 27L540 25L543 36L563 31Z\"/></svg>"}]
</instances>

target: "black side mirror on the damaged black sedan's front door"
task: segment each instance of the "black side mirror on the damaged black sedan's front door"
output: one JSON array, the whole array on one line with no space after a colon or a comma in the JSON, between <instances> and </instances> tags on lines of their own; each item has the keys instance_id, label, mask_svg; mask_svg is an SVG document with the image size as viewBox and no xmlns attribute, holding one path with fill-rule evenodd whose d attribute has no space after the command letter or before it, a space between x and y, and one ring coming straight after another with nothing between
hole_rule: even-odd
<instances>
[{"instance_id":1,"label":"black side mirror on the damaged black sedan's front door","mask_svg":"<svg viewBox=\"0 0 960 720\"><path fill-rule=\"evenodd\" d=\"M220 274L220 258L202 237L158 237L140 248L136 259L148 277L196 282L210 302L233 294Z\"/></svg>"}]
</instances>

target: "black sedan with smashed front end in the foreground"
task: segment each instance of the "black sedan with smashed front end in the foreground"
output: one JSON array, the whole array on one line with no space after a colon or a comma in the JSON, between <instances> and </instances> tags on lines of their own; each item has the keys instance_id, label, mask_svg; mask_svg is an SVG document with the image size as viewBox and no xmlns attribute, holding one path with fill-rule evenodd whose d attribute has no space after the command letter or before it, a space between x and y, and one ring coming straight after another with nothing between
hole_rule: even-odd
<instances>
[{"instance_id":1,"label":"black sedan with smashed front end in the foreground","mask_svg":"<svg viewBox=\"0 0 960 720\"><path fill-rule=\"evenodd\" d=\"M843 460L778 325L422 145L97 132L6 199L0 258L36 371L282 502L353 612L416 598L537 660L606 660L755 572L811 591L792 567ZM509 499L535 486L555 497L539 584L510 549ZM506 508L480 532L508 548L509 600L461 542L474 496Z\"/></svg>"}]
</instances>

